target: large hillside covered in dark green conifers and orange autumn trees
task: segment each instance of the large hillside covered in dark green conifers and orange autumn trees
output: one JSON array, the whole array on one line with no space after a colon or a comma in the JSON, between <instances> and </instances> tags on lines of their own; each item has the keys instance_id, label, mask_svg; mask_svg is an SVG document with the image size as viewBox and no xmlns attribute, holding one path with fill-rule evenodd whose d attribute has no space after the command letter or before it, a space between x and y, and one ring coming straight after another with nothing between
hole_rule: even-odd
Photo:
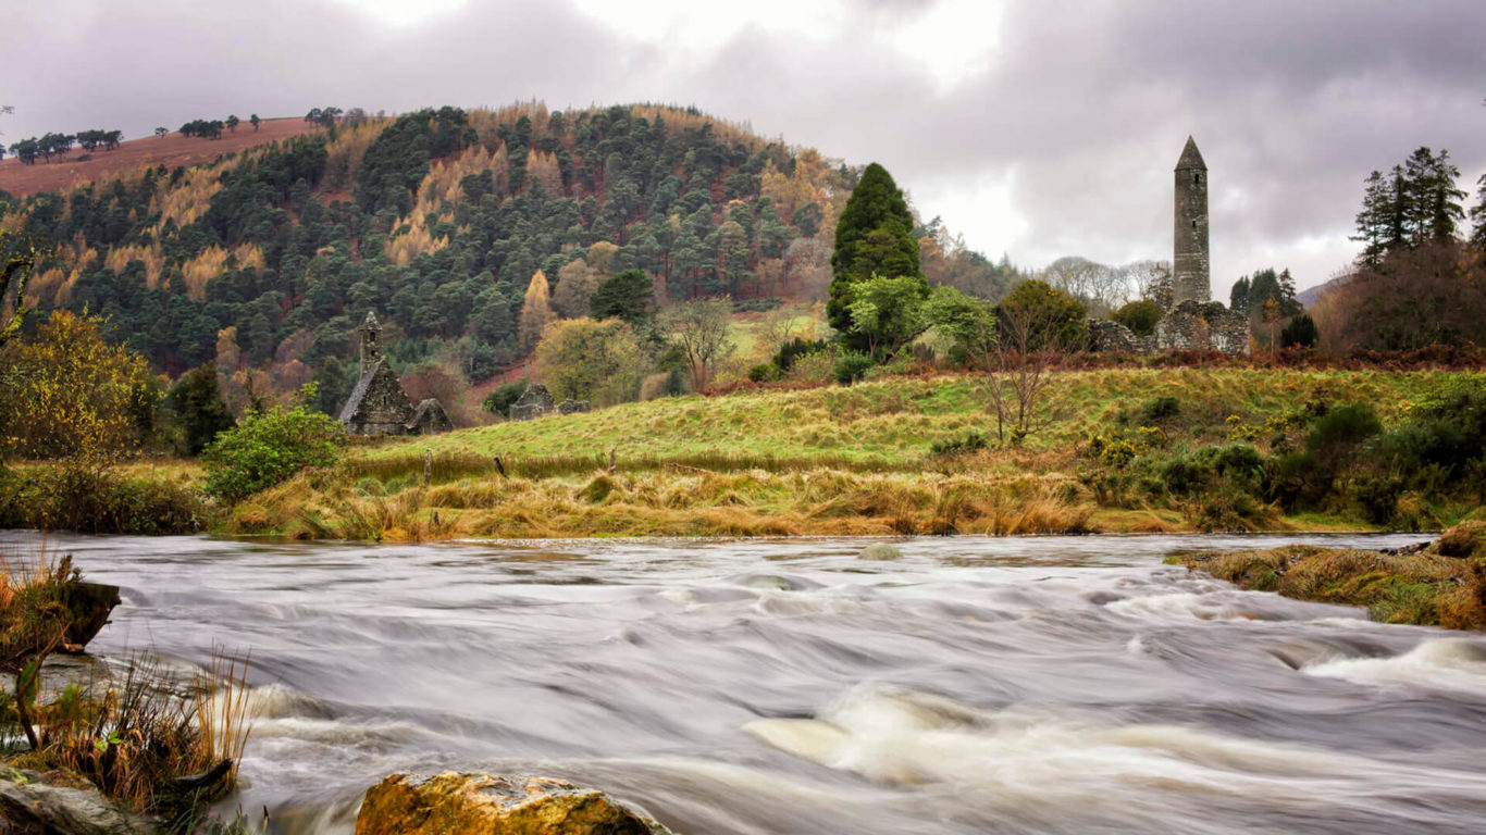
<instances>
[{"instance_id":1,"label":"large hillside covered in dark green conifers and orange autumn trees","mask_svg":"<svg viewBox=\"0 0 1486 835\"><path fill-rule=\"evenodd\" d=\"M520 360L538 273L563 318L636 267L657 305L820 299L859 171L695 110L444 107L198 168L0 195L0 229L55 248L30 287L43 308L104 315L113 339L171 374L215 361L260 394L315 380L331 410L367 311L401 367L477 382ZM933 244L930 281L984 296L1010 282L942 224L918 233Z\"/></svg>"}]
</instances>

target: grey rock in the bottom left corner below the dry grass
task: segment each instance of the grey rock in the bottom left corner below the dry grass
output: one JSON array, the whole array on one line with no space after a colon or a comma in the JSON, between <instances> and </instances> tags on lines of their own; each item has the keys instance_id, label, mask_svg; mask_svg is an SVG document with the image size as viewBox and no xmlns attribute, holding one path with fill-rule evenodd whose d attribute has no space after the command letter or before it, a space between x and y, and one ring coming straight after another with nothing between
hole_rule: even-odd
<instances>
[{"instance_id":1,"label":"grey rock in the bottom left corner below the dry grass","mask_svg":"<svg viewBox=\"0 0 1486 835\"><path fill-rule=\"evenodd\" d=\"M128 814L95 789L49 786L40 774L0 765L3 835L143 835L143 817Z\"/></svg>"}]
</instances>

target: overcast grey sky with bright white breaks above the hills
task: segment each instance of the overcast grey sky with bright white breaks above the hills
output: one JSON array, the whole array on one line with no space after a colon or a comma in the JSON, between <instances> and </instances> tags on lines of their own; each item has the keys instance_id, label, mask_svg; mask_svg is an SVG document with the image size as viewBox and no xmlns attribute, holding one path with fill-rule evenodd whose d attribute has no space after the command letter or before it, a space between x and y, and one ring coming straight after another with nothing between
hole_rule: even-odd
<instances>
[{"instance_id":1,"label":"overcast grey sky with bright white breaks above the hills","mask_svg":"<svg viewBox=\"0 0 1486 835\"><path fill-rule=\"evenodd\" d=\"M68 0L0 28L4 141L315 105L663 101L851 163L1024 266L1171 257L1187 134L1213 285L1355 253L1373 168L1486 171L1482 0Z\"/></svg>"}]
</instances>

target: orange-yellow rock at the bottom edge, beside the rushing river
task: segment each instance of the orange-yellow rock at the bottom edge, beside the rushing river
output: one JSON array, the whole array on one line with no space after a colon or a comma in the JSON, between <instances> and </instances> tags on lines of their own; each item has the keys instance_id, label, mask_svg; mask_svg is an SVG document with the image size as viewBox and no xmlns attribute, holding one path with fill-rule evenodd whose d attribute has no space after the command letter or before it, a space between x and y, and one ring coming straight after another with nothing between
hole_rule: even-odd
<instances>
[{"instance_id":1,"label":"orange-yellow rock at the bottom edge, beside the rushing river","mask_svg":"<svg viewBox=\"0 0 1486 835\"><path fill-rule=\"evenodd\" d=\"M392 774L367 789L357 835L669 835L594 789L551 777Z\"/></svg>"}]
</instances>

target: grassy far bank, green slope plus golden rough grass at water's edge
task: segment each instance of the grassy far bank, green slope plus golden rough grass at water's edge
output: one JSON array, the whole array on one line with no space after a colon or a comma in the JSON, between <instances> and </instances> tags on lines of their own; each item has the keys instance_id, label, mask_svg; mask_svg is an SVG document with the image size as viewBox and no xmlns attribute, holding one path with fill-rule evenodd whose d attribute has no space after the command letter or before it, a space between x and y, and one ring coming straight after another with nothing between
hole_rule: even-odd
<instances>
[{"instance_id":1,"label":"grassy far bank, green slope plus golden rough grass at water's edge","mask_svg":"<svg viewBox=\"0 0 1486 835\"><path fill-rule=\"evenodd\" d=\"M1199 523L1181 507L1101 499L1082 478L1088 435L1158 397L1178 400L1181 443L1193 446L1315 401L1370 403L1389 423L1444 377L1070 371L1049 391L1057 419L1024 447L955 458L933 456L930 444L994 437L984 382L972 376L664 398L358 446L337 471L233 508L220 530L352 539L1186 530ZM1282 529L1366 527L1349 517L1266 519Z\"/></svg>"}]
</instances>

